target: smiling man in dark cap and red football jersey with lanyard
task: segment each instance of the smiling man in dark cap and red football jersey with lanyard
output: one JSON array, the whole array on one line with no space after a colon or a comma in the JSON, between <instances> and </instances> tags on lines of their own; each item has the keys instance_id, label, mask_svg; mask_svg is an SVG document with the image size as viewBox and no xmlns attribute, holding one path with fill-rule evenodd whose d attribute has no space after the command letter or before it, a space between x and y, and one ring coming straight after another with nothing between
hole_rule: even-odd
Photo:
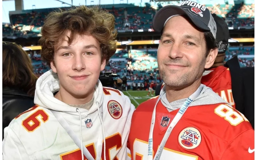
<instances>
[{"instance_id":1,"label":"smiling man in dark cap and red football jersey with lanyard","mask_svg":"<svg viewBox=\"0 0 256 160\"><path fill-rule=\"evenodd\" d=\"M218 54L210 11L191 1L161 8L153 29L161 33L160 96L133 113L129 144L133 160L254 159L248 120L211 88L200 84Z\"/></svg>"}]
</instances>

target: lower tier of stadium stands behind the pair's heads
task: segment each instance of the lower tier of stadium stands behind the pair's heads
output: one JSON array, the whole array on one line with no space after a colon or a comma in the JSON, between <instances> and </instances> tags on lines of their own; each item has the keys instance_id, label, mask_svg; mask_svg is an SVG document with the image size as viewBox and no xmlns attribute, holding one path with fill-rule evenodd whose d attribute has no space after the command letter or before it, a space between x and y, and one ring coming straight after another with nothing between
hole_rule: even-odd
<instances>
[{"instance_id":1,"label":"lower tier of stadium stands behind the pair's heads","mask_svg":"<svg viewBox=\"0 0 256 160\"><path fill-rule=\"evenodd\" d=\"M113 72L120 76L126 76L128 82L136 83L143 80L154 80L160 82L156 59L157 49L133 49L128 53L126 50L118 49L116 54L111 57L110 63L106 65L104 72ZM225 61L233 56L238 56L241 67L254 67L254 46L229 47L226 52ZM123 60L115 60L120 57ZM129 57L129 58L128 58ZM33 57L32 64L34 72L40 76L50 68L42 62L40 54Z\"/></svg>"}]
</instances>

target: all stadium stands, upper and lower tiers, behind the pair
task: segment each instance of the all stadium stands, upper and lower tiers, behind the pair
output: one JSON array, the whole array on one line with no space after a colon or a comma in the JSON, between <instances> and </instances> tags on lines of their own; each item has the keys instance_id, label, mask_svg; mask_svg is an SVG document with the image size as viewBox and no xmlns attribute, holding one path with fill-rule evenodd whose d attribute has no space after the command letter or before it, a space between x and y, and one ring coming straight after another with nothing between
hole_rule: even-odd
<instances>
[{"instance_id":1,"label":"all stadium stands, upper and lower tiers, behind the pair","mask_svg":"<svg viewBox=\"0 0 256 160\"><path fill-rule=\"evenodd\" d=\"M203 4L212 13L222 17L231 28L254 28L254 2L250 0L244 2L226 4L222 0L214 0L214 2L204 0ZM115 16L116 29L121 32L128 29L152 29L152 19L156 11L166 5L177 4L178 1L150 2L117 4L115 6L105 5L102 8L105 8ZM43 21L52 10L57 10L57 8L24 10L19 14L17 12L10 14L11 24L3 24L3 37L41 36L40 31ZM152 80L159 83L161 78L158 73L156 54L156 48L130 49L129 51L117 49L116 53L111 57L110 63L106 65L104 72L113 72L120 76L126 76L129 85L133 82L150 82ZM254 67L254 46L229 47L225 60L231 59L235 55L238 55L241 67ZM34 65L34 72L38 76L50 69L42 62L40 55L33 55L31 59Z\"/></svg>"}]
</instances>

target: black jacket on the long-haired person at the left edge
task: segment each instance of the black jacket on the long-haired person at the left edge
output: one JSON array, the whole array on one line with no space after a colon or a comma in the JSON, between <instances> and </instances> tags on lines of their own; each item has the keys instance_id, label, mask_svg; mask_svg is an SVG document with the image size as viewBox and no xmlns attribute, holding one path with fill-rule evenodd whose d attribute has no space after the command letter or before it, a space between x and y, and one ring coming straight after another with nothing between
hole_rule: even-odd
<instances>
[{"instance_id":1,"label":"black jacket on the long-haired person at the left edge","mask_svg":"<svg viewBox=\"0 0 256 160\"><path fill-rule=\"evenodd\" d=\"M33 107L34 97L28 96L21 90L4 87L3 88L3 129L18 116Z\"/></svg>"}]
</instances>

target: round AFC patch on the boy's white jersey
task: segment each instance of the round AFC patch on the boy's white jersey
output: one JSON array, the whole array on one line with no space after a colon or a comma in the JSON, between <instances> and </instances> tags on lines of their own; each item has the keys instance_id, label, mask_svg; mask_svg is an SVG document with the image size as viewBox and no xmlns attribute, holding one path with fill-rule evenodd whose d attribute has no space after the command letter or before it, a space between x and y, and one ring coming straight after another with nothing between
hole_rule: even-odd
<instances>
[{"instance_id":1,"label":"round AFC patch on the boy's white jersey","mask_svg":"<svg viewBox=\"0 0 256 160\"><path fill-rule=\"evenodd\" d=\"M123 114L122 106L114 100L108 101L108 113L114 119L119 119Z\"/></svg>"}]
</instances>

